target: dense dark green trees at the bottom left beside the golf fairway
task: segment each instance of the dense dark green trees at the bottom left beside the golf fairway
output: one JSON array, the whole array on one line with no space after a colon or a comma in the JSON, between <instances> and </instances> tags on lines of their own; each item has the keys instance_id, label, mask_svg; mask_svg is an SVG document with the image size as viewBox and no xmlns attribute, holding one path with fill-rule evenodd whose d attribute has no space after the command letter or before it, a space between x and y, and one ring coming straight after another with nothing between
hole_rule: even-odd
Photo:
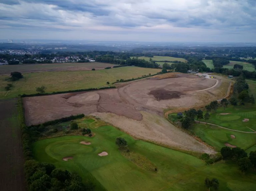
<instances>
[{"instance_id":1,"label":"dense dark green trees at the bottom left beside the golf fairway","mask_svg":"<svg viewBox=\"0 0 256 191\"><path fill-rule=\"evenodd\" d=\"M25 175L29 191L86 191L93 188L92 184L84 185L77 174L36 160L25 162Z\"/></svg>"}]
</instances>

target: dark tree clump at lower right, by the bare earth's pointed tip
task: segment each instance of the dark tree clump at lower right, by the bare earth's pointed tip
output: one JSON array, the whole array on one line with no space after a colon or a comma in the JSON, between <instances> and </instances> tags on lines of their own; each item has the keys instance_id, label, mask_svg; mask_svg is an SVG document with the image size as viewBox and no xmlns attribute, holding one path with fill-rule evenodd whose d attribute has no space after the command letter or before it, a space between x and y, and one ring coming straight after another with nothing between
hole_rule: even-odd
<instances>
[{"instance_id":1,"label":"dark tree clump at lower right, by the bare earth's pointed tip","mask_svg":"<svg viewBox=\"0 0 256 191\"><path fill-rule=\"evenodd\" d=\"M256 151L251 151L248 157L244 149L239 147L222 147L220 153L224 160L235 160L239 169L246 172L250 169L256 169Z\"/></svg>"}]
</instances>

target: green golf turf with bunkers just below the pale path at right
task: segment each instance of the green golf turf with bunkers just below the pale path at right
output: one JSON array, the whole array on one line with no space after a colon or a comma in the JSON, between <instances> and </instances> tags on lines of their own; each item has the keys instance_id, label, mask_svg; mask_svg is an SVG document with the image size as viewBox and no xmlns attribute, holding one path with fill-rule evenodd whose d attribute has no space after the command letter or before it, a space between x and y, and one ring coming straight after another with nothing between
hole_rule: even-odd
<instances>
[{"instance_id":1,"label":"green golf turf with bunkers just below the pale path at right","mask_svg":"<svg viewBox=\"0 0 256 191\"><path fill-rule=\"evenodd\" d=\"M196 124L192 131L204 142L217 148L217 150L224 147L225 143L241 147L245 150L256 144L256 134L230 131L209 124ZM234 135L235 139L231 138L231 135Z\"/></svg>"}]
</instances>

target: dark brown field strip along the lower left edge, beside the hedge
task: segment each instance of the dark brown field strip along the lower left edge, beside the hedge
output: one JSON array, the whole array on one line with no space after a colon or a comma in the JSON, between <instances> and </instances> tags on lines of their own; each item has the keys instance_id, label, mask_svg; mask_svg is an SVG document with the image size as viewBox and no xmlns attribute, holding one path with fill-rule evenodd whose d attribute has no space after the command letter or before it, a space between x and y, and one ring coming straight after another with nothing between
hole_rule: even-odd
<instances>
[{"instance_id":1,"label":"dark brown field strip along the lower left edge, beside the hedge","mask_svg":"<svg viewBox=\"0 0 256 191\"><path fill-rule=\"evenodd\" d=\"M17 100L0 100L1 191L25 190Z\"/></svg>"}]
</instances>

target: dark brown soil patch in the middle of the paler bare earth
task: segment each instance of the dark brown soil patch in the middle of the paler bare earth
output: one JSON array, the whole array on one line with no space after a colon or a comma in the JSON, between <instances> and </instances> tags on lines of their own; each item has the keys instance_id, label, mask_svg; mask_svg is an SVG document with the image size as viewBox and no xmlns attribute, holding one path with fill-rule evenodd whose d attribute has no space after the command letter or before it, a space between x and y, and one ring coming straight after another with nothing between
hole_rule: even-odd
<instances>
[{"instance_id":1,"label":"dark brown soil patch in the middle of the paler bare earth","mask_svg":"<svg viewBox=\"0 0 256 191\"><path fill-rule=\"evenodd\" d=\"M177 99L182 95L179 91L168 91L165 89L152 90L148 94L153 95L156 100Z\"/></svg>"}]
</instances>

